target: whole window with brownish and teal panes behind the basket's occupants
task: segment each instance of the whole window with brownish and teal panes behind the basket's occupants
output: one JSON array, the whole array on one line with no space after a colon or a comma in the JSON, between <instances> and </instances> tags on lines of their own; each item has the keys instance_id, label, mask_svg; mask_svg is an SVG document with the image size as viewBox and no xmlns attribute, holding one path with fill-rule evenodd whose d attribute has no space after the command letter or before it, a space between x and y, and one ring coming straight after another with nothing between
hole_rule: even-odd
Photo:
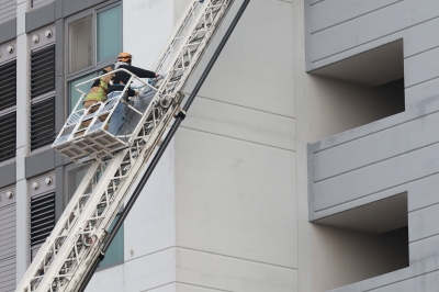
<instances>
[{"instance_id":1,"label":"whole window with brownish and teal panes behind the basket's occupants","mask_svg":"<svg viewBox=\"0 0 439 292\"><path fill-rule=\"evenodd\" d=\"M86 11L66 25L68 47L68 102L70 112L81 94L76 85L98 76L99 70L116 60L122 50L122 8L112 4ZM91 83L82 86L88 92Z\"/></svg>"}]
</instances>

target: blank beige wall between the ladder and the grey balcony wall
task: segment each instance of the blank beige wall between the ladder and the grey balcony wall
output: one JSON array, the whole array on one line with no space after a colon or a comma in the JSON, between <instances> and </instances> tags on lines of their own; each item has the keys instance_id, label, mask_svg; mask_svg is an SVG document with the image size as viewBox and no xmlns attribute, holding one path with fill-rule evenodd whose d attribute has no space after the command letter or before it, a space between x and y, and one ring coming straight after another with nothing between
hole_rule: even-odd
<instances>
[{"instance_id":1,"label":"blank beige wall between the ladder and the grey balcony wall","mask_svg":"<svg viewBox=\"0 0 439 292\"><path fill-rule=\"evenodd\" d=\"M177 134L178 291L297 291L293 15L250 1Z\"/></svg>"}]
</instances>

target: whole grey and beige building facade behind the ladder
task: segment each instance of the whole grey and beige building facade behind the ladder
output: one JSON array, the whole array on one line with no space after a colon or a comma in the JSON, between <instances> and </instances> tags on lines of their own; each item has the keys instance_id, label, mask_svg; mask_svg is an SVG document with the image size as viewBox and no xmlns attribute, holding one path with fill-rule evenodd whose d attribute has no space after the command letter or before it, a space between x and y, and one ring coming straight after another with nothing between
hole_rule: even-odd
<instances>
[{"instance_id":1,"label":"whole grey and beige building facade behind the ladder","mask_svg":"<svg viewBox=\"0 0 439 292\"><path fill-rule=\"evenodd\" d=\"M75 86L121 50L150 68L189 3L0 1L1 292L87 170L50 148ZM88 291L437 291L438 18L250 1Z\"/></svg>"}]
</instances>

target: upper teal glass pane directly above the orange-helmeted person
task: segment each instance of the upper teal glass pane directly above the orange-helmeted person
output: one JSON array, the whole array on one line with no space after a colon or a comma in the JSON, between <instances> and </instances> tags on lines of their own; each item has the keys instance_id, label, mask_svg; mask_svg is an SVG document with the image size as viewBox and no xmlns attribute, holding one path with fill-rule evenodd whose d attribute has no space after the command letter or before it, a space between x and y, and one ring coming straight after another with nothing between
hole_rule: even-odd
<instances>
[{"instance_id":1,"label":"upper teal glass pane directly above the orange-helmeted person","mask_svg":"<svg viewBox=\"0 0 439 292\"><path fill-rule=\"evenodd\" d=\"M98 61L114 57L122 50L121 7L98 14Z\"/></svg>"}]
</instances>

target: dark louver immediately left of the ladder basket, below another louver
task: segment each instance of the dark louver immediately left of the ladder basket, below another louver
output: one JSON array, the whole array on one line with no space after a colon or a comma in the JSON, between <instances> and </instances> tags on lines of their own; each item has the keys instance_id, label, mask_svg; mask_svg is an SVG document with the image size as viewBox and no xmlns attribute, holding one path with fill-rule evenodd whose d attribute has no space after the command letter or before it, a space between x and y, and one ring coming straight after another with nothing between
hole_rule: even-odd
<instances>
[{"instance_id":1,"label":"dark louver immediately left of the ladder basket, below another louver","mask_svg":"<svg viewBox=\"0 0 439 292\"><path fill-rule=\"evenodd\" d=\"M31 150L55 139L55 97L31 104Z\"/></svg>"}]
</instances>

